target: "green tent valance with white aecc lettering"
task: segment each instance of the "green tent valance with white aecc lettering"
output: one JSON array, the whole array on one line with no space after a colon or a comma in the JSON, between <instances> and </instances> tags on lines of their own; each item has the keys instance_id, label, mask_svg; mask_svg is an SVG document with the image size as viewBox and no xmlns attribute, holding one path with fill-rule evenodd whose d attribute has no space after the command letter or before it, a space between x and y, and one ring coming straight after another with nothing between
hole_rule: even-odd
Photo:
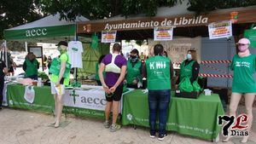
<instances>
[{"instance_id":1,"label":"green tent valance with white aecc lettering","mask_svg":"<svg viewBox=\"0 0 256 144\"><path fill-rule=\"evenodd\" d=\"M20 30L4 30L3 37L6 40L18 40L38 37L74 36L75 32L75 25L47 26Z\"/></svg>"}]
</instances>

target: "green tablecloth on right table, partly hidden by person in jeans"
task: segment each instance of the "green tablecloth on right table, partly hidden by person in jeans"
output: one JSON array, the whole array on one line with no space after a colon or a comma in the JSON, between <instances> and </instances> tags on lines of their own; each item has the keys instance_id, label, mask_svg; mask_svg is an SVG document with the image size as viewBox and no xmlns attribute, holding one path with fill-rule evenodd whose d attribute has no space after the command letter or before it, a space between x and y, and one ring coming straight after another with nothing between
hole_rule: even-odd
<instances>
[{"instance_id":1,"label":"green tablecloth on right table, partly hidden by person in jeans","mask_svg":"<svg viewBox=\"0 0 256 144\"><path fill-rule=\"evenodd\" d=\"M172 95L174 95L172 93ZM218 115L224 114L218 95L200 95L198 99L172 96L166 130L213 140L221 130ZM148 93L135 89L123 97L122 124L149 127Z\"/></svg>"}]
</instances>

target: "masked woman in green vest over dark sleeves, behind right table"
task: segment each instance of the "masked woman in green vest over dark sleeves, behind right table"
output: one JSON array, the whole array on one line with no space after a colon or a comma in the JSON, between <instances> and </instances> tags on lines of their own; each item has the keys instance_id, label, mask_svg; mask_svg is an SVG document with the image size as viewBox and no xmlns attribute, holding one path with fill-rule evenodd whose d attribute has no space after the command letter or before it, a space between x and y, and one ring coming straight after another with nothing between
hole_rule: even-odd
<instances>
[{"instance_id":1,"label":"masked woman in green vest over dark sleeves, behind right table","mask_svg":"<svg viewBox=\"0 0 256 144\"><path fill-rule=\"evenodd\" d=\"M183 60L180 66L180 74L177 78L176 84L182 82L183 78L189 78L190 83L193 84L195 80L198 78L199 70L200 65L196 60L196 51L189 50L187 54L187 59Z\"/></svg>"}]
</instances>

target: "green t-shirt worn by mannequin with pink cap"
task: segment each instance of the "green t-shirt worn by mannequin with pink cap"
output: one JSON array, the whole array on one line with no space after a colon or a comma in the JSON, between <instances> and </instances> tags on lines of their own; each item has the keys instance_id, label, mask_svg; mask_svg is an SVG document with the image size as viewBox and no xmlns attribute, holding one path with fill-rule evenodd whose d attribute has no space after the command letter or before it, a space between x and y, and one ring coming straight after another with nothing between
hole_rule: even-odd
<instances>
[{"instance_id":1,"label":"green t-shirt worn by mannequin with pink cap","mask_svg":"<svg viewBox=\"0 0 256 144\"><path fill-rule=\"evenodd\" d=\"M253 73L256 71L256 55L247 57L235 55L230 67L234 71L232 92L255 93L256 81Z\"/></svg>"}]
</instances>

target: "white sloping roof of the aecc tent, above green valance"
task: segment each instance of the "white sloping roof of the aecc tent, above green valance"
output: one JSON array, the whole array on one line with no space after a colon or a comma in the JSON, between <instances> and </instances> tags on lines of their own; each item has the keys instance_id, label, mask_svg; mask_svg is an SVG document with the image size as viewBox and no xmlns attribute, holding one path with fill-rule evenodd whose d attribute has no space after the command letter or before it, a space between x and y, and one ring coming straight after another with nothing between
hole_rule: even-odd
<instances>
[{"instance_id":1,"label":"white sloping roof of the aecc tent, above green valance","mask_svg":"<svg viewBox=\"0 0 256 144\"><path fill-rule=\"evenodd\" d=\"M87 21L84 16L77 16L76 20L74 21L67 21L67 20L60 20L61 15L59 13L57 14L51 14L49 16L46 16L40 20L36 20L30 23L27 23L25 25L16 26L13 28L9 28L8 30L20 30L20 29L28 29L33 27L46 27L46 26L63 26L63 25L70 25L75 24L79 21Z\"/></svg>"}]
</instances>

